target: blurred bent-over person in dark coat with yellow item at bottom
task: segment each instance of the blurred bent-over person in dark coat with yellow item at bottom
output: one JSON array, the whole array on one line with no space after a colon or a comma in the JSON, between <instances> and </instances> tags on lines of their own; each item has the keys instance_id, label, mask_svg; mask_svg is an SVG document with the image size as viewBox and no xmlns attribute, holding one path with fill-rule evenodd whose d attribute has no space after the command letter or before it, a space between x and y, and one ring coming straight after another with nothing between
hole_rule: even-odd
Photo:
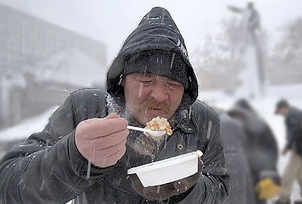
<instances>
[{"instance_id":1,"label":"blurred bent-over person in dark coat with yellow item at bottom","mask_svg":"<svg viewBox=\"0 0 302 204\"><path fill-rule=\"evenodd\" d=\"M247 135L244 149L251 168L257 203L267 203L267 199L280 192L277 170L278 146L275 136L269 125L244 99L235 102L228 113L242 123Z\"/></svg>"}]
</instances>

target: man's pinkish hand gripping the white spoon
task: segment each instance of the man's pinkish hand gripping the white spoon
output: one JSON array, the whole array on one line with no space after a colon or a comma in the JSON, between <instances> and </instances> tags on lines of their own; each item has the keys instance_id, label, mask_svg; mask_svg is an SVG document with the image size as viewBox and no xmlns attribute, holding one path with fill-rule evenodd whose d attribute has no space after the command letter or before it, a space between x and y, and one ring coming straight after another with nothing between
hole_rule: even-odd
<instances>
[{"instance_id":1,"label":"man's pinkish hand gripping the white spoon","mask_svg":"<svg viewBox=\"0 0 302 204\"><path fill-rule=\"evenodd\" d=\"M126 152L127 120L111 113L106 118L84 120L75 131L77 149L91 164L112 166Z\"/></svg>"}]
</instances>

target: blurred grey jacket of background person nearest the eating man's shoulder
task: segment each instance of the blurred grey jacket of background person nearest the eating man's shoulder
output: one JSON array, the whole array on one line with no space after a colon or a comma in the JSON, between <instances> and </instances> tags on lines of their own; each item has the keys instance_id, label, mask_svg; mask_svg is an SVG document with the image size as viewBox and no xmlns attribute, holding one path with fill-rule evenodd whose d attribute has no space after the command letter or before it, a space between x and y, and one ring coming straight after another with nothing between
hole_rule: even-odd
<instances>
[{"instance_id":1,"label":"blurred grey jacket of background person nearest the eating man's shoulder","mask_svg":"<svg viewBox=\"0 0 302 204\"><path fill-rule=\"evenodd\" d=\"M255 204L253 182L246 152L246 134L242 125L226 113L221 120L221 139L230 175L229 203Z\"/></svg>"}]
</instances>

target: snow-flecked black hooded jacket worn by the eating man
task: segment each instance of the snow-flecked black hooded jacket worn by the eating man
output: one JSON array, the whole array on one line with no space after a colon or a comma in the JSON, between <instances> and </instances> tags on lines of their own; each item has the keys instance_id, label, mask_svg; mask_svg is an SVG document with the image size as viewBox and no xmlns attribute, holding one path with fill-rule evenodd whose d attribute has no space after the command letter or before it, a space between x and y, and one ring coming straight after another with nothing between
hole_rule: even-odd
<instances>
[{"instance_id":1,"label":"snow-flecked black hooded jacket worn by the eating man","mask_svg":"<svg viewBox=\"0 0 302 204\"><path fill-rule=\"evenodd\" d=\"M127 58L148 50L172 51L186 63L189 87L184 91L180 109L189 116L177 121L175 131L159 147L154 160L201 150L205 167L196 185L169 201L173 203L223 203L228 196L228 175L216 113L196 101L198 86L189 63L184 40L164 8L153 8L111 65L107 91L125 107L120 86ZM88 118L108 115L107 93L86 89L72 93L49 118L40 133L33 134L0 162L0 203L159 203L145 201L127 179L127 169L152 161L128 145L125 155L114 166L88 166L74 143L74 130ZM131 125L131 123L130 123ZM129 140L129 137L128 137ZM172 202L170 202L172 203Z\"/></svg>"}]
</instances>

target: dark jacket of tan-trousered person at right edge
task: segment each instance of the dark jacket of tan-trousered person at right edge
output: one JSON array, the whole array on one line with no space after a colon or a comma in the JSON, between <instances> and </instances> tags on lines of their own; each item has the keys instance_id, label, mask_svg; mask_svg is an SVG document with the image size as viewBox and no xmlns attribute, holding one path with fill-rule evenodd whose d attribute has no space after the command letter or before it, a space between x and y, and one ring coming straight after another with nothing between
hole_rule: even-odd
<instances>
[{"instance_id":1,"label":"dark jacket of tan-trousered person at right edge","mask_svg":"<svg viewBox=\"0 0 302 204\"><path fill-rule=\"evenodd\" d=\"M294 150L302 157L302 111L290 107L285 117L287 127L287 148Z\"/></svg>"}]
</instances>

